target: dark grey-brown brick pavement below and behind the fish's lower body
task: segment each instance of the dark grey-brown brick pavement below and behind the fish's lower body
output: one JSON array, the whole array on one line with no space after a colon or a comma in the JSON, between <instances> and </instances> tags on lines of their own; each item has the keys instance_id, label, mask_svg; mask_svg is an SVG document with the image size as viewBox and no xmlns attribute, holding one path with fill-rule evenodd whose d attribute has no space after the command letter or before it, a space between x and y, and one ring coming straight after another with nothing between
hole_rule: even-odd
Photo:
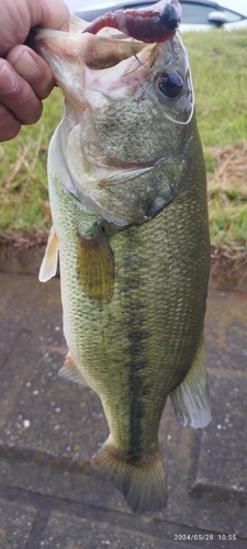
<instances>
[{"instance_id":1,"label":"dark grey-brown brick pavement below and behind the fish's lower body","mask_svg":"<svg viewBox=\"0 0 247 549\"><path fill-rule=\"evenodd\" d=\"M145 517L87 474L108 427L98 396L57 376L66 352L59 280L1 272L0 310L0 549L247 547L246 293L210 290L213 421L182 428L168 404L169 502Z\"/></svg>"}]
</instances>

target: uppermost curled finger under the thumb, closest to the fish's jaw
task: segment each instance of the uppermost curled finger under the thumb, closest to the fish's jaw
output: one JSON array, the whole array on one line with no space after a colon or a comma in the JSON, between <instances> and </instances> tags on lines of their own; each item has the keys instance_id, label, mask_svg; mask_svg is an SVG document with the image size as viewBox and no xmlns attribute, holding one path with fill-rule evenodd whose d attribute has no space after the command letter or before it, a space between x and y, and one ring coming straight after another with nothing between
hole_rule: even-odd
<instances>
[{"instance_id":1,"label":"uppermost curled finger under the thumb, closest to the fish's jaw","mask_svg":"<svg viewBox=\"0 0 247 549\"><path fill-rule=\"evenodd\" d=\"M40 99L48 97L54 87L53 72L40 55L30 47L20 45L9 52L7 60L29 82L35 96Z\"/></svg>"}]
</instances>

